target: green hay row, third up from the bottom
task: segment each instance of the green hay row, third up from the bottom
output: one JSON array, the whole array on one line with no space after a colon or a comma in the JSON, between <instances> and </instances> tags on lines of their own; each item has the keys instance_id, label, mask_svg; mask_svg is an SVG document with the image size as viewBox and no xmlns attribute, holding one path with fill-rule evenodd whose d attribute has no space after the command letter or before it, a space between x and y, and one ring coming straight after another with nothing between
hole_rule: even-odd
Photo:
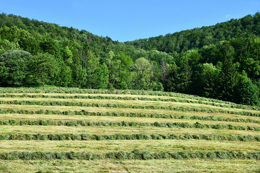
<instances>
[{"instance_id":1,"label":"green hay row, third up from the bottom","mask_svg":"<svg viewBox=\"0 0 260 173\"><path fill-rule=\"evenodd\" d=\"M175 122L175 123L137 123L137 122L103 122L103 121L52 121L52 120L25 120L25 121L16 121L16 120L0 120L0 125L31 125L31 126L105 126L105 127L167 127L167 128L197 128L197 129L227 129L227 130L252 130L252 131L260 131L260 127L252 127L252 126L234 126L232 124L224 125L224 124L203 124L203 123L187 123L187 122Z\"/></svg>"}]
</instances>

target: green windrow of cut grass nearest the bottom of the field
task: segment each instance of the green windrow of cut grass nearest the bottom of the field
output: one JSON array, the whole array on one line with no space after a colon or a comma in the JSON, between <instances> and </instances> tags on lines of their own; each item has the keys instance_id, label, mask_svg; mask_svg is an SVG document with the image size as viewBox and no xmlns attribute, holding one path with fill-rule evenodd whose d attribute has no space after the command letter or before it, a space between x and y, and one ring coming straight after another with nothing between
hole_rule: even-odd
<instances>
[{"instance_id":1,"label":"green windrow of cut grass nearest the bottom of the field","mask_svg":"<svg viewBox=\"0 0 260 173\"><path fill-rule=\"evenodd\" d=\"M77 159L77 160L96 160L96 159L260 159L260 152L233 152L233 151L214 151L214 152L147 152L138 149L132 152L109 152L109 153L86 153L86 152L0 152L2 160L50 160L50 159Z\"/></svg>"}]
</instances>

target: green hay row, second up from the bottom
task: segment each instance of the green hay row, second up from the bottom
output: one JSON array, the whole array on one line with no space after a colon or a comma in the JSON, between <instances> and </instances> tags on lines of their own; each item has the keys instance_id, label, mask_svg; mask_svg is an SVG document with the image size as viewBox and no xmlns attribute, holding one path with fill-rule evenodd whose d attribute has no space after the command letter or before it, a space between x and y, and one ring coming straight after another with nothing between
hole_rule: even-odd
<instances>
[{"instance_id":1,"label":"green hay row, second up from the bottom","mask_svg":"<svg viewBox=\"0 0 260 173\"><path fill-rule=\"evenodd\" d=\"M175 140L208 140L208 141L242 141L242 142L260 142L260 136L252 135L218 135L218 134L114 134L114 135L90 135L90 134L2 134L0 140L161 140L161 139L175 139Z\"/></svg>"}]
</instances>

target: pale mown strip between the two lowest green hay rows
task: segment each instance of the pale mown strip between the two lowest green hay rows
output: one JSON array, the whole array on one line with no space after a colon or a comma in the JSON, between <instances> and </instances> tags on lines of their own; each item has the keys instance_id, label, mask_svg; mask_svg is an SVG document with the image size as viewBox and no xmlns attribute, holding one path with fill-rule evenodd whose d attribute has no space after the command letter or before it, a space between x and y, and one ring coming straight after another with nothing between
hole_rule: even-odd
<instances>
[{"instance_id":1,"label":"pale mown strip between the two lowest green hay rows","mask_svg":"<svg viewBox=\"0 0 260 173\"><path fill-rule=\"evenodd\" d=\"M104 141L1 141L0 152L37 150L43 152L131 152L135 149L148 152L260 152L259 142L205 141L205 140L104 140Z\"/></svg>"}]
</instances>

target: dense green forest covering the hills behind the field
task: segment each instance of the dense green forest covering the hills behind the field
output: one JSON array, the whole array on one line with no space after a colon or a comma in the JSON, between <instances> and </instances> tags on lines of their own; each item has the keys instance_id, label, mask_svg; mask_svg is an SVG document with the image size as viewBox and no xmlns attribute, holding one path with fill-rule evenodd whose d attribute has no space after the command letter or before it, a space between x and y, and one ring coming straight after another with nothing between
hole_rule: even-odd
<instances>
[{"instance_id":1,"label":"dense green forest covering the hills behind the field","mask_svg":"<svg viewBox=\"0 0 260 173\"><path fill-rule=\"evenodd\" d=\"M127 42L0 14L0 87L171 91L259 105L260 14Z\"/></svg>"}]
</instances>

